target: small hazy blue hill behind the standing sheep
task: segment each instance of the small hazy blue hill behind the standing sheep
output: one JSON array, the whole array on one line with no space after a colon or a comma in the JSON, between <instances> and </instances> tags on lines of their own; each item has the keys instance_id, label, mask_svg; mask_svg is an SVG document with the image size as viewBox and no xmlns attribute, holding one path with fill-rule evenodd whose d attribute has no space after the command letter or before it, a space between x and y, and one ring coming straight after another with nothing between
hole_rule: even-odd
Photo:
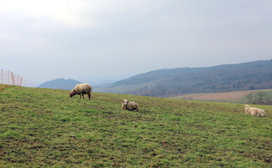
<instances>
[{"instance_id":1,"label":"small hazy blue hill behind the standing sheep","mask_svg":"<svg viewBox=\"0 0 272 168\"><path fill-rule=\"evenodd\" d=\"M62 90L72 90L74 86L81 82L73 79L57 78L55 80L50 80L42 83L38 87L50 88L50 89L62 89Z\"/></svg>"}]
</instances>

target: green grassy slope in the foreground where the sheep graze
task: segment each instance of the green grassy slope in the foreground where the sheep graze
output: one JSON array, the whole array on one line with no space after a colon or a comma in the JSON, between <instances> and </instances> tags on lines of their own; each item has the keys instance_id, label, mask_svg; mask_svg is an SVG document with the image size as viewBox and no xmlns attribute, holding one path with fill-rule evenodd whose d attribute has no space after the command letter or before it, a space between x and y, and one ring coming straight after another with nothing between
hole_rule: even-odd
<instances>
[{"instance_id":1,"label":"green grassy slope in the foreground where the sheep graze","mask_svg":"<svg viewBox=\"0 0 272 168\"><path fill-rule=\"evenodd\" d=\"M271 167L272 106L258 118L242 104L68 93L0 91L0 167Z\"/></svg>"}]
</instances>

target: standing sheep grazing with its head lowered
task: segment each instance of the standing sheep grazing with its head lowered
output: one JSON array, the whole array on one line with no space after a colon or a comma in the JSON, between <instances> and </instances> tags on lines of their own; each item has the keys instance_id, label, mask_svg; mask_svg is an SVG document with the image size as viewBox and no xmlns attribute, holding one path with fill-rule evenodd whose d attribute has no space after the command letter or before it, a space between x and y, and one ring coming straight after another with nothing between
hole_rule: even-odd
<instances>
[{"instance_id":1,"label":"standing sheep grazing with its head lowered","mask_svg":"<svg viewBox=\"0 0 272 168\"><path fill-rule=\"evenodd\" d=\"M79 94L80 97L81 97L81 94L82 94L82 97L84 99L83 94L88 94L88 97L90 99L90 97L91 97L90 94L91 93L92 93L92 87L90 86L90 84L88 84L88 83L81 83L81 84L77 84L74 87L74 89L70 92L69 97L73 97L76 94Z\"/></svg>"}]
</instances>

